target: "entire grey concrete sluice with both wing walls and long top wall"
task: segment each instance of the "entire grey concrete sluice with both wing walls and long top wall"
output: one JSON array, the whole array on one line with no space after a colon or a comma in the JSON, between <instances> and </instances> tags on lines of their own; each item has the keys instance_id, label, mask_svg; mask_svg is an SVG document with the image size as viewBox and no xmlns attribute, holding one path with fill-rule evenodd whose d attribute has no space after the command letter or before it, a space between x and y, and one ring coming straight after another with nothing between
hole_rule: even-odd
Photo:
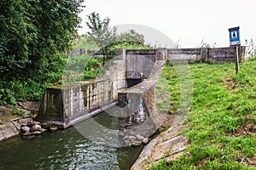
<instances>
[{"instance_id":1,"label":"entire grey concrete sluice with both wing walls and long top wall","mask_svg":"<svg viewBox=\"0 0 256 170\"><path fill-rule=\"evenodd\" d=\"M187 63L234 62L235 52L235 48L118 50L104 75L96 81L47 88L36 119L66 128L119 103L119 122L123 127L137 124L144 126L139 126L141 129L148 128L149 121L150 127L157 128L161 117L155 107L154 84L166 59L176 64L184 60ZM240 47L240 62L244 55L245 47Z\"/></svg>"}]
</instances>

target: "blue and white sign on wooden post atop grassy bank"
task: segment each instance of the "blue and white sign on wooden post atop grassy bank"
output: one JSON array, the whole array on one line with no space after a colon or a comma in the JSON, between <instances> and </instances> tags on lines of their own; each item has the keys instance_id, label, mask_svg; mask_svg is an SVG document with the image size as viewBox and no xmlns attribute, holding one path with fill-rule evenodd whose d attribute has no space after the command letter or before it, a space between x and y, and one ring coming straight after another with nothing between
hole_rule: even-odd
<instances>
[{"instance_id":1,"label":"blue and white sign on wooden post atop grassy bank","mask_svg":"<svg viewBox=\"0 0 256 170\"><path fill-rule=\"evenodd\" d=\"M230 47L236 48L236 74L239 71L239 53L238 48L240 48L240 34L239 34L239 26L230 28Z\"/></svg>"}]
</instances>

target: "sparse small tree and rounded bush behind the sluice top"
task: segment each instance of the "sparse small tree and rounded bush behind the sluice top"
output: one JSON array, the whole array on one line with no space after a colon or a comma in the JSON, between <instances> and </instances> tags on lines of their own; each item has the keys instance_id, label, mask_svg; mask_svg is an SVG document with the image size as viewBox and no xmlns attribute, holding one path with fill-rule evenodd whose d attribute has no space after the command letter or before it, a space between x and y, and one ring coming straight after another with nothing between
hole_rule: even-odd
<instances>
[{"instance_id":1,"label":"sparse small tree and rounded bush behind the sluice top","mask_svg":"<svg viewBox=\"0 0 256 170\"><path fill-rule=\"evenodd\" d=\"M111 59L116 48L149 48L145 45L142 34L135 30L117 33L117 27L110 27L110 19L107 17L101 19L100 14L93 12L89 14L88 21L85 22L89 31L87 36L84 36L84 43L95 42L96 46L100 48L103 55L103 65L106 59ZM81 47L81 45L79 45ZM86 45L86 47L91 47Z\"/></svg>"}]
</instances>

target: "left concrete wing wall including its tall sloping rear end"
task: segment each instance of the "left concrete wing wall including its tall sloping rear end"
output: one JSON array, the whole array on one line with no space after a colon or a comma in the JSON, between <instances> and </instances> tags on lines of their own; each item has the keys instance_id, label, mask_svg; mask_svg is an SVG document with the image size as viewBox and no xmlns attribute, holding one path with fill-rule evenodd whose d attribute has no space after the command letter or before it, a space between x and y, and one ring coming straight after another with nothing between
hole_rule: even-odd
<instances>
[{"instance_id":1,"label":"left concrete wing wall including its tall sloping rear end","mask_svg":"<svg viewBox=\"0 0 256 170\"><path fill-rule=\"evenodd\" d=\"M104 66L105 73L94 82L47 88L36 120L66 128L114 105L119 91L126 88L126 52L118 50L116 54Z\"/></svg>"}]
</instances>

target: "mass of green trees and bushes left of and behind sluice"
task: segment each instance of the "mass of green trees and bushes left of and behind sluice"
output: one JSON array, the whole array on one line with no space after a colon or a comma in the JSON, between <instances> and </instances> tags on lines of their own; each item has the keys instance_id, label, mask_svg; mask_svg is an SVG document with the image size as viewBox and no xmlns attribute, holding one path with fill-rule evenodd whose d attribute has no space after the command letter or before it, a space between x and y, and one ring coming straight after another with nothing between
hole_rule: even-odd
<instances>
[{"instance_id":1,"label":"mass of green trees and bushes left of and behind sluice","mask_svg":"<svg viewBox=\"0 0 256 170\"><path fill-rule=\"evenodd\" d=\"M96 78L116 48L150 48L144 45L143 35L136 31L117 35L108 26L110 20L101 20L96 13L86 22L91 32L79 37L76 29L83 2L0 2L0 105L40 100L49 86ZM74 46L99 49L105 57L67 58L65 53Z\"/></svg>"}]
</instances>

